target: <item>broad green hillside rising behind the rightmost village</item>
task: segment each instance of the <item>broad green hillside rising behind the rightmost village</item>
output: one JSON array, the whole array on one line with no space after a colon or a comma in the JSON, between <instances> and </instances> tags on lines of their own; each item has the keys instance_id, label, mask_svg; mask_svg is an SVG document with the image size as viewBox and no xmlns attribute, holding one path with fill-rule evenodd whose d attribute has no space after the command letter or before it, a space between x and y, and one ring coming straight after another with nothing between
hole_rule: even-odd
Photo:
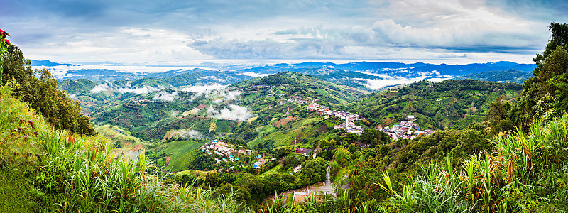
<instances>
[{"instance_id":1,"label":"broad green hillside rising behind the rightmost village","mask_svg":"<svg viewBox=\"0 0 568 213\"><path fill-rule=\"evenodd\" d=\"M391 125L406 115L415 115L417 123L430 129L465 129L481 122L491 102L501 95L518 96L520 84L501 84L479 80L415 82L376 92L349 105L350 111L373 118L376 125Z\"/></svg>"}]
</instances>

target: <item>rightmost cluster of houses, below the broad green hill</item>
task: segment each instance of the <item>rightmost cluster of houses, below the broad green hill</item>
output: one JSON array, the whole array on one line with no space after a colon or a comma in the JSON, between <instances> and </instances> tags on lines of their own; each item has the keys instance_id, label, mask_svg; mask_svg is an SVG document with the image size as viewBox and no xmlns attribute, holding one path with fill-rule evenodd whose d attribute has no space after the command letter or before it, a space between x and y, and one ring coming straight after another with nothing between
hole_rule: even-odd
<instances>
[{"instance_id":1,"label":"rightmost cluster of houses, below the broad green hill","mask_svg":"<svg viewBox=\"0 0 568 213\"><path fill-rule=\"evenodd\" d=\"M430 129L420 129L416 123L414 123L414 116L406 116L407 121L400 121L400 124L395 124L392 127L386 126L382 128L379 126L376 130L383 131L384 133L391 136L393 141L398 141L398 139L413 139L416 136L420 136L422 134L430 135L434 133L434 131Z\"/></svg>"}]
</instances>

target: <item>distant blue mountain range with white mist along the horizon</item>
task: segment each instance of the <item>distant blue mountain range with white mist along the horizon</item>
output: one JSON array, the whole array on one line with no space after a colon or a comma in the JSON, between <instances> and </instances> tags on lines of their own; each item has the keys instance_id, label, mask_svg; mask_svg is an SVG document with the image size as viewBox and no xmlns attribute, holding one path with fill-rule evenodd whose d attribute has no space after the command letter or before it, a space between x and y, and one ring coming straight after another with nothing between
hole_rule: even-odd
<instances>
[{"instance_id":1,"label":"distant blue mountain range with white mist along the horizon","mask_svg":"<svg viewBox=\"0 0 568 213\"><path fill-rule=\"evenodd\" d=\"M47 63L47 62L46 62ZM53 63L53 62L49 62ZM54 65L57 63L53 63ZM149 72L145 67L124 67L117 71L112 69L92 69L82 66L67 67L63 70L52 68L54 76L59 80L89 79L95 82L139 80L143 78L168 78L182 74L201 73L204 77L218 77L226 80L227 84L236 80L248 79L264 75L273 75L278 72L297 72L318 77L322 80L342 84L371 92L398 84L408 84L417 80L436 79L444 80L479 72L502 71L515 69L523 72L534 70L534 64L518 64L515 62L488 62L467 65L430 64L424 62L349 62L337 64L333 62L301 62L295 64L280 63L261 66L214 66L202 68L175 68L165 72ZM163 69L168 67L163 67ZM148 69L151 70L151 69ZM217 76L219 75L219 76ZM229 75L232 75L232 79ZM507 80L503 80L507 81ZM518 82L511 79L510 81ZM204 81L204 84L210 82ZM224 84L219 82L220 84ZM164 84L164 83L161 83Z\"/></svg>"}]
</instances>

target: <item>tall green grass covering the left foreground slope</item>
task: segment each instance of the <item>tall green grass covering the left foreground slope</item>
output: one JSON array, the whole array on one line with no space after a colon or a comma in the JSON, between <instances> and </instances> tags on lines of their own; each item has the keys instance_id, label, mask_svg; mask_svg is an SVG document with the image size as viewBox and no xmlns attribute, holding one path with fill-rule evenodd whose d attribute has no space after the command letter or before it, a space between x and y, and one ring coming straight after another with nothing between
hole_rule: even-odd
<instances>
[{"instance_id":1,"label":"tall green grass covering the left foreground slope","mask_svg":"<svg viewBox=\"0 0 568 213\"><path fill-rule=\"evenodd\" d=\"M143 153L134 160L116 157L107 138L54 130L6 87L0 87L0 130L0 160L40 190L42 212L251 211L236 192L214 197L200 185L148 173L155 165Z\"/></svg>"}]
</instances>

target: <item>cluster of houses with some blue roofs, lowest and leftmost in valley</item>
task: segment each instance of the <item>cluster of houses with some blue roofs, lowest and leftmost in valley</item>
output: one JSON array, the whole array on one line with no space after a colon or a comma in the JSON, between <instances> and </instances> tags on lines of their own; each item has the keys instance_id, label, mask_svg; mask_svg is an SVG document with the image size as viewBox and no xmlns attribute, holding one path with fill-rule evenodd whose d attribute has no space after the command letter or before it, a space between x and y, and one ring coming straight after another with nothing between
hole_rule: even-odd
<instances>
[{"instance_id":1,"label":"cluster of houses with some blue roofs, lowest and leftmost in valley","mask_svg":"<svg viewBox=\"0 0 568 213\"><path fill-rule=\"evenodd\" d=\"M232 144L219 140L209 141L200 148L203 153L207 153L207 155L214 155L214 160L217 163L239 161L239 158L237 157L238 155L249 155L253 152L250 149L244 148L234 149Z\"/></svg>"}]
</instances>

